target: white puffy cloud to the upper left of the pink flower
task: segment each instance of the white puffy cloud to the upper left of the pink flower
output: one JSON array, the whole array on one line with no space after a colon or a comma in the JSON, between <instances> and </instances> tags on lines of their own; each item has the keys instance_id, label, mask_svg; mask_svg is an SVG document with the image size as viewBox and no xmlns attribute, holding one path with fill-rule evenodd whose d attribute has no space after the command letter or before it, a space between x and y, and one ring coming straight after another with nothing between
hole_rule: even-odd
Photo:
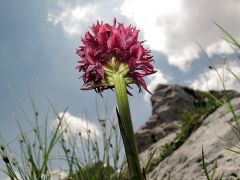
<instances>
[{"instance_id":1,"label":"white puffy cloud to the upper left of the pink flower","mask_svg":"<svg viewBox=\"0 0 240 180\"><path fill-rule=\"evenodd\" d=\"M54 25L60 24L66 35L80 35L87 28L89 19L96 17L96 4L71 6L68 3L60 3L62 11L49 12L48 21Z\"/></svg>"}]
</instances>

